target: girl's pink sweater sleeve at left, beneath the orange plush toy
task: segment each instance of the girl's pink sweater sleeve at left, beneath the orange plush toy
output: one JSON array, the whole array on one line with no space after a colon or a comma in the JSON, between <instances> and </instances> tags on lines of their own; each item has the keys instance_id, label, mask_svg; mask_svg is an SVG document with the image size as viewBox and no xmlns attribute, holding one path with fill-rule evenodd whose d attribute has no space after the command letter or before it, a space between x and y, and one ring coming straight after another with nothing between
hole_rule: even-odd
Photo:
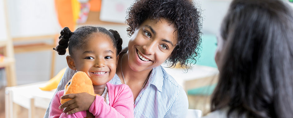
<instances>
[{"instance_id":1,"label":"girl's pink sweater sleeve at left, beneath the orange plush toy","mask_svg":"<svg viewBox=\"0 0 293 118\"><path fill-rule=\"evenodd\" d=\"M60 97L63 96L64 90L59 91L55 94L54 98L52 99L52 102L50 104L50 112L49 112L49 118L84 118L86 117L86 111L80 111L76 112L74 114L66 115L66 113L63 113L63 109L59 109L60 103Z\"/></svg>"}]
</instances>

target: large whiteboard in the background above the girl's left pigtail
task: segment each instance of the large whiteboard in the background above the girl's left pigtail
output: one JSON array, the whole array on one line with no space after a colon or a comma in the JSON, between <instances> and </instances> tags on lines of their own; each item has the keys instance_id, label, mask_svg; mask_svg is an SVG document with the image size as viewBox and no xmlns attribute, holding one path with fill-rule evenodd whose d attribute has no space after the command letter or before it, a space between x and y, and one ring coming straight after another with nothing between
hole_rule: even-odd
<instances>
[{"instance_id":1,"label":"large whiteboard in the background above the girl's left pigtail","mask_svg":"<svg viewBox=\"0 0 293 118\"><path fill-rule=\"evenodd\" d=\"M60 32L54 0L6 0L6 2L13 38Z\"/></svg>"}]
</instances>

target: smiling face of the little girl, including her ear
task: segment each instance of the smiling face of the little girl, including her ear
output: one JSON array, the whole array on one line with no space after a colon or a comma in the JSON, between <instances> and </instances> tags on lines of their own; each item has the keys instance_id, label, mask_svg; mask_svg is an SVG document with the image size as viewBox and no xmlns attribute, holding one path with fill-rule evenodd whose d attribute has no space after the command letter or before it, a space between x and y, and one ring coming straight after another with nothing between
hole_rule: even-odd
<instances>
[{"instance_id":1,"label":"smiling face of the little girl, including her ear","mask_svg":"<svg viewBox=\"0 0 293 118\"><path fill-rule=\"evenodd\" d=\"M85 72L93 85L105 85L115 75L118 55L107 35L91 35L83 47L74 50L73 57L66 57L67 63L71 69Z\"/></svg>"}]
</instances>

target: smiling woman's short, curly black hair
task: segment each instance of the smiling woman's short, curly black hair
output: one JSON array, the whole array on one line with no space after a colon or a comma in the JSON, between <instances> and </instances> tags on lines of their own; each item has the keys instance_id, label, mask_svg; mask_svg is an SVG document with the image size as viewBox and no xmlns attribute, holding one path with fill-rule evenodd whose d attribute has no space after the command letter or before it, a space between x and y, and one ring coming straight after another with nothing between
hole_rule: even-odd
<instances>
[{"instance_id":1,"label":"smiling woman's short, curly black hair","mask_svg":"<svg viewBox=\"0 0 293 118\"><path fill-rule=\"evenodd\" d=\"M136 0L128 8L126 23L128 35L147 19L166 19L174 23L178 31L178 43L166 61L170 67L180 66L189 69L196 63L201 50L201 9L195 8L191 0Z\"/></svg>"}]
</instances>

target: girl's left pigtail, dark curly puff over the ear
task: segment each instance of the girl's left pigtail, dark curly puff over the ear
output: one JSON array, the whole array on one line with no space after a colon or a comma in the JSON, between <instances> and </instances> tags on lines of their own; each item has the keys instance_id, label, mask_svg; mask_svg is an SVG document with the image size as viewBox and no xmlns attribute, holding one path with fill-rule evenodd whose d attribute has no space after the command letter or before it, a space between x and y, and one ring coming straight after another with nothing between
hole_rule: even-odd
<instances>
[{"instance_id":1,"label":"girl's left pigtail, dark curly puff over the ear","mask_svg":"<svg viewBox=\"0 0 293 118\"><path fill-rule=\"evenodd\" d=\"M64 55L66 48L68 47L69 38L73 32L71 32L68 27L65 27L61 30L60 34L59 45L57 45L56 48L53 48L53 50L57 51L59 55Z\"/></svg>"}]
</instances>

